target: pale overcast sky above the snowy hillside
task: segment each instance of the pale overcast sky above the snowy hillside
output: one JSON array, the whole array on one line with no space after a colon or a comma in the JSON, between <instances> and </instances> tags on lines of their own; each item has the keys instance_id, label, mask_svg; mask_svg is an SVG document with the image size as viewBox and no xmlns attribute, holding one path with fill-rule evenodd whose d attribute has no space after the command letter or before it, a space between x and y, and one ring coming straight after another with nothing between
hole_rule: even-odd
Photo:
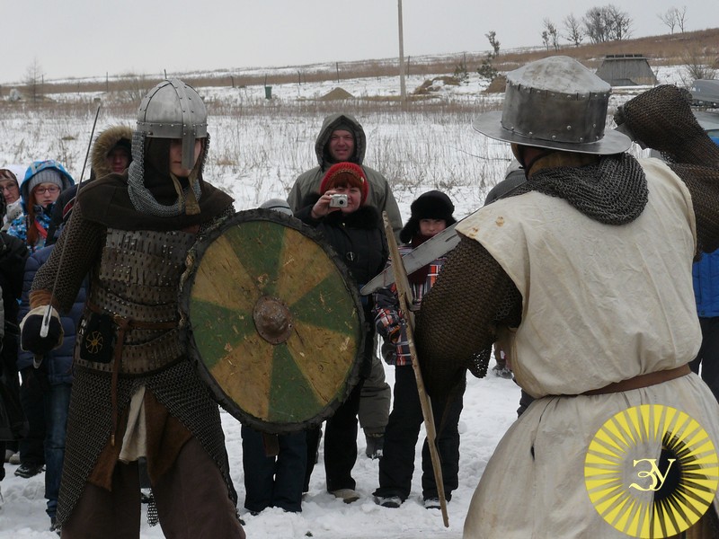
<instances>
[{"instance_id":1,"label":"pale overcast sky above the snowy hillside","mask_svg":"<svg viewBox=\"0 0 719 539\"><path fill-rule=\"evenodd\" d=\"M542 44L542 21L614 4L632 36L668 33L658 14L687 7L686 30L719 25L717 0L404 0L404 55ZM0 0L0 84L37 62L46 79L161 75L396 57L396 0Z\"/></svg>"}]
</instances>

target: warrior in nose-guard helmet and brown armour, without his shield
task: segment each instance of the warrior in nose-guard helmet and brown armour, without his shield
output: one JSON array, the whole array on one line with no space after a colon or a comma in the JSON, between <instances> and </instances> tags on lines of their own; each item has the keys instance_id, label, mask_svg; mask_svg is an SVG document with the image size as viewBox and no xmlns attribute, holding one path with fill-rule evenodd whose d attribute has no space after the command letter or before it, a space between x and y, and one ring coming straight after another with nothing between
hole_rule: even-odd
<instances>
[{"instance_id":1,"label":"warrior in nose-guard helmet and brown armour, without his shield","mask_svg":"<svg viewBox=\"0 0 719 539\"><path fill-rule=\"evenodd\" d=\"M234 213L202 178L208 148L200 95L178 79L157 84L138 110L129 169L79 190L33 281L22 347L41 355L62 339L57 311L91 279L58 502L64 537L139 536L143 456L165 536L244 537L217 403L178 331L185 255Z\"/></svg>"}]
</instances>

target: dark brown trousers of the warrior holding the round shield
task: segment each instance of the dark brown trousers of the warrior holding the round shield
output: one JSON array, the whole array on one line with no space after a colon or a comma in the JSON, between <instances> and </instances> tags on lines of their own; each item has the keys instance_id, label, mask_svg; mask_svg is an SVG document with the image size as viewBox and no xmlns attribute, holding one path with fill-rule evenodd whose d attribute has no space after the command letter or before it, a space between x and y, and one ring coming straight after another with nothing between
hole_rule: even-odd
<instances>
[{"instance_id":1,"label":"dark brown trousers of the warrior holding the round shield","mask_svg":"<svg viewBox=\"0 0 719 539\"><path fill-rule=\"evenodd\" d=\"M227 486L196 438L180 451L173 468L152 486L163 535L173 539L244 539ZM62 526L63 539L140 536L138 463L115 466L112 490L85 483L83 495Z\"/></svg>"}]
</instances>

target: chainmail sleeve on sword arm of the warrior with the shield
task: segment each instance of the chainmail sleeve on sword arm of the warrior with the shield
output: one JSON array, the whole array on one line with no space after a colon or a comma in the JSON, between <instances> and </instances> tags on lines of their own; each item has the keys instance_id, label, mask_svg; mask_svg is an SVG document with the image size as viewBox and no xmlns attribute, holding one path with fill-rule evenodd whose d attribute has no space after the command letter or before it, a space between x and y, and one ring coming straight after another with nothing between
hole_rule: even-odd
<instances>
[{"instance_id":1,"label":"chainmail sleeve on sword arm of the warrior with the shield","mask_svg":"<svg viewBox=\"0 0 719 539\"><path fill-rule=\"evenodd\" d=\"M104 239L104 225L85 219L79 201L75 202L72 216L60 234L58 243L32 281L31 307L43 305L40 298L52 294L52 304L61 313L69 312L84 277L92 269L93 263L100 260Z\"/></svg>"}]
</instances>

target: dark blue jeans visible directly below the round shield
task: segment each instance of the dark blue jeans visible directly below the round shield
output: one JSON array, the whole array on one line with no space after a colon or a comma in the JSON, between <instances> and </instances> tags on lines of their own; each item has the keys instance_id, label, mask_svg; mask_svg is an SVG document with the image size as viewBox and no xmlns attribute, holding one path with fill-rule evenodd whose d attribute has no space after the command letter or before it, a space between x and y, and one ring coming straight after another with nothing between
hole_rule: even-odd
<instances>
[{"instance_id":1,"label":"dark blue jeans visible directly below the round shield","mask_svg":"<svg viewBox=\"0 0 719 539\"><path fill-rule=\"evenodd\" d=\"M262 433L242 427L244 507L254 513L264 508L302 510L302 486L307 464L305 432L281 434L277 456L265 454Z\"/></svg>"}]
</instances>

